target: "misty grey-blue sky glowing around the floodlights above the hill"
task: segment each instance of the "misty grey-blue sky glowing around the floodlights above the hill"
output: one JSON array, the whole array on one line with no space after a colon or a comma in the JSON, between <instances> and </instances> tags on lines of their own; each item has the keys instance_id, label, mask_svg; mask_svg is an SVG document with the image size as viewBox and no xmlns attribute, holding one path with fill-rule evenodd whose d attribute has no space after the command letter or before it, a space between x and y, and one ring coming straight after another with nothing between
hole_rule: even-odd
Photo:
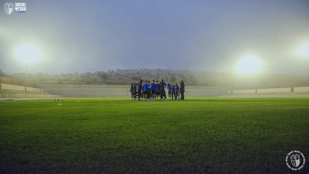
<instances>
[{"instance_id":1,"label":"misty grey-blue sky glowing around the floodlights above the hill","mask_svg":"<svg viewBox=\"0 0 309 174\"><path fill-rule=\"evenodd\" d=\"M4 8L10 0L0 0ZM308 0L29 0L26 13L0 9L0 69L25 71L16 56L35 45L28 72L190 69L234 72L245 56L257 73L309 75Z\"/></svg>"}]
</instances>

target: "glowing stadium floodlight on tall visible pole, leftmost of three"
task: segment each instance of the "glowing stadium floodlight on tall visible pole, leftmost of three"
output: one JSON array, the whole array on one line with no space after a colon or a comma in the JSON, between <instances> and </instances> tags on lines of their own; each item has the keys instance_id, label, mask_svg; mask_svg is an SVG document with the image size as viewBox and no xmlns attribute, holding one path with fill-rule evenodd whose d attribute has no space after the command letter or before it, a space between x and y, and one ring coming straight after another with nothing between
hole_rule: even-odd
<instances>
[{"instance_id":1,"label":"glowing stadium floodlight on tall visible pole, leftmost of three","mask_svg":"<svg viewBox=\"0 0 309 174\"><path fill-rule=\"evenodd\" d=\"M21 44L15 49L15 55L18 57L22 62L26 63L26 85L25 91L27 91L27 66L28 63L36 62L41 57L41 51L35 45L32 44Z\"/></svg>"}]
</instances>

